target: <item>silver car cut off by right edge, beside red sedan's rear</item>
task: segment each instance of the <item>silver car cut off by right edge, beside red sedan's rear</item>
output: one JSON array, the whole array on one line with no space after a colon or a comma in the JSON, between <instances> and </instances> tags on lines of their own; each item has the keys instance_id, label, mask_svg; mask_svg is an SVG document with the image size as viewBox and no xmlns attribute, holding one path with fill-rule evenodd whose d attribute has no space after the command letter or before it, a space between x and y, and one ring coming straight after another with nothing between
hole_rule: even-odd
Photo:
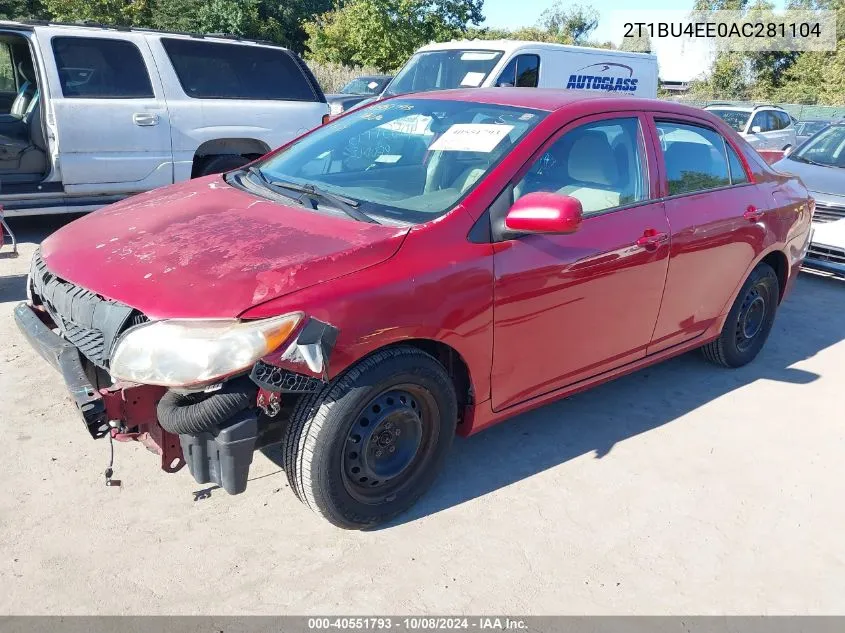
<instances>
[{"instance_id":1,"label":"silver car cut off by right edge, beside red sedan's rear","mask_svg":"<svg viewBox=\"0 0 845 633\"><path fill-rule=\"evenodd\" d=\"M830 123L773 167L801 178L816 200L804 266L845 275L845 121Z\"/></svg>"}]
</instances>

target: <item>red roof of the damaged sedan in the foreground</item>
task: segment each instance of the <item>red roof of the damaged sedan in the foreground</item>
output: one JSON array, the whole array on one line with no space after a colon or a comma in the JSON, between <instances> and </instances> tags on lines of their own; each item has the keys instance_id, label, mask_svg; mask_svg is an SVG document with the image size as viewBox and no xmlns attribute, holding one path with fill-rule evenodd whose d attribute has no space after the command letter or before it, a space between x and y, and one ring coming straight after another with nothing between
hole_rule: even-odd
<instances>
[{"instance_id":1,"label":"red roof of the damaged sedan in the foreground","mask_svg":"<svg viewBox=\"0 0 845 633\"><path fill-rule=\"evenodd\" d=\"M645 97L618 96L608 92L590 90L565 90L563 88L462 88L457 90L432 90L399 95L407 99L447 99L450 101L469 101L489 103L491 105L514 106L553 112L577 104L588 103L596 112L601 110L658 110L679 114L697 113L699 108ZM601 102L601 103L598 103ZM717 118L708 115L708 117Z\"/></svg>"}]
</instances>

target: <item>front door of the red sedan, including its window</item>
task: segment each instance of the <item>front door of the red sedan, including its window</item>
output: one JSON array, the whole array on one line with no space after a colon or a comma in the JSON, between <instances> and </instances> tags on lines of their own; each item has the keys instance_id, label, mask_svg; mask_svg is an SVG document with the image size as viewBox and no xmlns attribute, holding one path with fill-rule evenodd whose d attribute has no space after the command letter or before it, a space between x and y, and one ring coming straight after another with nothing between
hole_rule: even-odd
<instances>
[{"instance_id":1,"label":"front door of the red sedan, including its window","mask_svg":"<svg viewBox=\"0 0 845 633\"><path fill-rule=\"evenodd\" d=\"M654 201L655 156L644 130L635 113L581 119L515 182L515 198L577 198L584 220L571 235L495 245L495 410L645 356L670 236L663 203Z\"/></svg>"}]
</instances>

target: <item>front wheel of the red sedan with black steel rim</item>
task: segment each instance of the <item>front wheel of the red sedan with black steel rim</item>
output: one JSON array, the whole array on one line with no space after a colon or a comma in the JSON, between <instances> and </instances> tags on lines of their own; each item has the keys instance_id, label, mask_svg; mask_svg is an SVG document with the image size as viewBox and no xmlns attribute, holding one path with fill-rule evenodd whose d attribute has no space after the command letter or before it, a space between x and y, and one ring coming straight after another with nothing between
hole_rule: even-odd
<instances>
[{"instance_id":1,"label":"front wheel of the red sedan with black steel rim","mask_svg":"<svg viewBox=\"0 0 845 633\"><path fill-rule=\"evenodd\" d=\"M433 356L406 346L376 352L297 403L284 439L290 487L338 527L384 523L431 486L457 412Z\"/></svg>"}]
</instances>

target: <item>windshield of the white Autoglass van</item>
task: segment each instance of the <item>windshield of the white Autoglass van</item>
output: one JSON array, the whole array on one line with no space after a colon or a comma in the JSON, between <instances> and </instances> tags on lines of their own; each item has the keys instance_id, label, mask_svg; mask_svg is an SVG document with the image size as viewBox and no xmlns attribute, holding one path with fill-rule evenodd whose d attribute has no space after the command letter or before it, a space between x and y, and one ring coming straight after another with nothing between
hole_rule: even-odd
<instances>
[{"instance_id":1,"label":"windshield of the white Autoglass van","mask_svg":"<svg viewBox=\"0 0 845 633\"><path fill-rule=\"evenodd\" d=\"M477 88L504 55L503 51L447 50L417 53L408 60L385 94L449 88Z\"/></svg>"}]
</instances>

